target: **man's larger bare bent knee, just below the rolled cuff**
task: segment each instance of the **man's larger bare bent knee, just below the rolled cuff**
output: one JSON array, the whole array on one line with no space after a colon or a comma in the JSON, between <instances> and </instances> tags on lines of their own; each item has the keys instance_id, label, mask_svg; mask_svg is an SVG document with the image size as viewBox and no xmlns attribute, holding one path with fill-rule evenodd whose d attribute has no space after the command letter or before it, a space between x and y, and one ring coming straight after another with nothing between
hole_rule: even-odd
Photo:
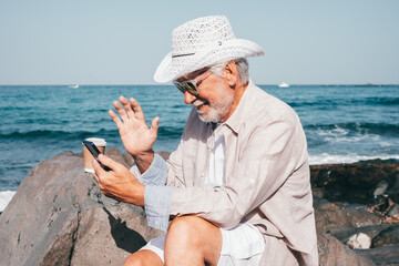
<instances>
[{"instance_id":1,"label":"man's larger bare bent knee, just below the rolled cuff","mask_svg":"<svg viewBox=\"0 0 399 266\"><path fill-rule=\"evenodd\" d=\"M222 250L221 229L195 216L172 221L166 235L165 264L216 266Z\"/></svg>"}]
</instances>

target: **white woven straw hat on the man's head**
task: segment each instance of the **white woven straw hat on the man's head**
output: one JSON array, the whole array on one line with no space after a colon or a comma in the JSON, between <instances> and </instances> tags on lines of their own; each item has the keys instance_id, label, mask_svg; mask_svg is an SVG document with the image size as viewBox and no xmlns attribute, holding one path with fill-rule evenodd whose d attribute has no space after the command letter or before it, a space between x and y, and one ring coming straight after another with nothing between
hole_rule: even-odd
<instances>
[{"instance_id":1,"label":"white woven straw hat on the man's head","mask_svg":"<svg viewBox=\"0 0 399 266\"><path fill-rule=\"evenodd\" d=\"M173 30L172 51L157 66L154 80L168 82L205 66L263 54L255 42L234 37L226 17L198 18Z\"/></svg>"}]
</instances>

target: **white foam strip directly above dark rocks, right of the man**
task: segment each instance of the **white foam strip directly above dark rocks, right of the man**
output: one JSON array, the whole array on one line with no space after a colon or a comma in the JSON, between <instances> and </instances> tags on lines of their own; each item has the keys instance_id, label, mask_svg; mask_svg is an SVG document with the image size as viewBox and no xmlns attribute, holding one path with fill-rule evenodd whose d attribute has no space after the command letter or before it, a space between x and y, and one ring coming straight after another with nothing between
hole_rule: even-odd
<instances>
[{"instance_id":1,"label":"white foam strip directly above dark rocks, right of the man","mask_svg":"<svg viewBox=\"0 0 399 266\"><path fill-rule=\"evenodd\" d=\"M367 160L388 160L395 158L399 160L399 154L396 155L376 155L376 156L365 156L358 154L346 154L346 155L332 155L328 153L323 153L318 155L310 155L309 154L309 164L310 165L319 165L319 164L340 164L340 163L356 163L359 161L367 161Z\"/></svg>"}]
</instances>

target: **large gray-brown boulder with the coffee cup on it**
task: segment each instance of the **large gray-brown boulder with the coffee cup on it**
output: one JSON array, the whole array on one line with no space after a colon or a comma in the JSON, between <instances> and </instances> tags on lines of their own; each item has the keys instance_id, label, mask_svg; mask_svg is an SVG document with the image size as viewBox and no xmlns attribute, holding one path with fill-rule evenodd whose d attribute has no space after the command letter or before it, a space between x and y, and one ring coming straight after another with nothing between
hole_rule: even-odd
<instances>
[{"instance_id":1,"label":"large gray-brown boulder with the coffee cup on it","mask_svg":"<svg viewBox=\"0 0 399 266\"><path fill-rule=\"evenodd\" d=\"M130 166L116 149L106 155ZM143 208L103 196L81 156L42 161L22 182L0 216L1 265L122 265L160 235Z\"/></svg>"}]
</instances>

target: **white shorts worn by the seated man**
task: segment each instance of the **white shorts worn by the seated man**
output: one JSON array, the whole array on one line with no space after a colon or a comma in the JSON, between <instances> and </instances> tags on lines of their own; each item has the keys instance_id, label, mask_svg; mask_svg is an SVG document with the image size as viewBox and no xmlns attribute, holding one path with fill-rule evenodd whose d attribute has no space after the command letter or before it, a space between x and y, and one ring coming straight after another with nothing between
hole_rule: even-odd
<instances>
[{"instance_id":1,"label":"white shorts worn by the seated man","mask_svg":"<svg viewBox=\"0 0 399 266\"><path fill-rule=\"evenodd\" d=\"M232 229L222 229L222 252L218 266L257 266L265 249L265 239L253 225L238 224ZM151 239L141 249L154 252L164 262L166 234Z\"/></svg>"}]
</instances>

